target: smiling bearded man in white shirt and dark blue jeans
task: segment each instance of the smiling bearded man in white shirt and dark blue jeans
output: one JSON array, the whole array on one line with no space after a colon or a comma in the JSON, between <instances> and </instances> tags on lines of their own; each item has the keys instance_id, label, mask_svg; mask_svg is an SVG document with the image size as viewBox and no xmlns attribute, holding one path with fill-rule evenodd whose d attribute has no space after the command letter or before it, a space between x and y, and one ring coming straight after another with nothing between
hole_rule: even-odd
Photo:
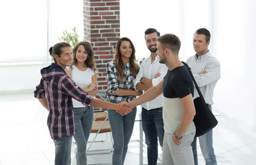
<instances>
[{"instance_id":1,"label":"smiling bearded man in white shirt and dark blue jeans","mask_svg":"<svg viewBox=\"0 0 256 165\"><path fill-rule=\"evenodd\" d=\"M145 31L145 40L148 50L150 50L150 56L145 58L139 66L139 73L134 81L136 90L146 91L150 87L158 85L166 76L168 68L159 63L159 56L157 55L157 38L159 36L160 33L154 28ZM141 104L141 107L142 126L148 148L148 165L155 165L158 157L157 137L161 147L164 139L162 94L154 100Z\"/></svg>"}]
</instances>

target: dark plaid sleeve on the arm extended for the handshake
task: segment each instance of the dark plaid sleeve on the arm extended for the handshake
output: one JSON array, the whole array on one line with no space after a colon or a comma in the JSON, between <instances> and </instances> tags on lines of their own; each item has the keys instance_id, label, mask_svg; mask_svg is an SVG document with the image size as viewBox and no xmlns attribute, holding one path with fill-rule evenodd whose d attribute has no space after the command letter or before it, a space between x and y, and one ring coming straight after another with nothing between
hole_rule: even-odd
<instances>
[{"instance_id":1,"label":"dark plaid sleeve on the arm extended for the handshake","mask_svg":"<svg viewBox=\"0 0 256 165\"><path fill-rule=\"evenodd\" d=\"M92 100L92 96L90 96L88 92L83 91L80 87L75 85L75 83L68 76L64 76L61 82L61 91L68 94L75 100L78 100L84 105L90 104L90 101Z\"/></svg>"}]
</instances>

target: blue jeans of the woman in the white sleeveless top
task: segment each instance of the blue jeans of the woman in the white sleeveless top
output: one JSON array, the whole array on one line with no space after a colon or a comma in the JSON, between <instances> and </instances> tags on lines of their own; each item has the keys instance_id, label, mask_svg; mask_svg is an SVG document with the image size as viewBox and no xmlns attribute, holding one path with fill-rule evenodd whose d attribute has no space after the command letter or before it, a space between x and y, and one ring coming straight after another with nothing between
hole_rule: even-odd
<instances>
[{"instance_id":1,"label":"blue jeans of the woman in the white sleeveless top","mask_svg":"<svg viewBox=\"0 0 256 165\"><path fill-rule=\"evenodd\" d=\"M76 135L74 135L75 141L77 142L77 164L86 165L86 144L92 129L93 120L93 107L90 109L86 107L74 108L75 113L75 129Z\"/></svg>"}]
</instances>

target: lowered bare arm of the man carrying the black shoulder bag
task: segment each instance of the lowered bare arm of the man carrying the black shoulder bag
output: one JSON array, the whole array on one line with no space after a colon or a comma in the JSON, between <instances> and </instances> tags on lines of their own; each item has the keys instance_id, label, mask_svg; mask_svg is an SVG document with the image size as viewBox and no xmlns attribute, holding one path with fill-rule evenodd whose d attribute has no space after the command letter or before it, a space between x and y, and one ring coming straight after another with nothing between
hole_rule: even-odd
<instances>
[{"instance_id":1,"label":"lowered bare arm of the man carrying the black shoulder bag","mask_svg":"<svg viewBox=\"0 0 256 165\"><path fill-rule=\"evenodd\" d=\"M181 144L182 139L177 140L175 138L175 134L178 137L183 136L190 124L193 122L193 118L195 117L195 106L192 94L188 94L184 98L181 98L181 104L184 109L184 113L176 133L173 133L173 142L175 142L177 145Z\"/></svg>"}]
</instances>

